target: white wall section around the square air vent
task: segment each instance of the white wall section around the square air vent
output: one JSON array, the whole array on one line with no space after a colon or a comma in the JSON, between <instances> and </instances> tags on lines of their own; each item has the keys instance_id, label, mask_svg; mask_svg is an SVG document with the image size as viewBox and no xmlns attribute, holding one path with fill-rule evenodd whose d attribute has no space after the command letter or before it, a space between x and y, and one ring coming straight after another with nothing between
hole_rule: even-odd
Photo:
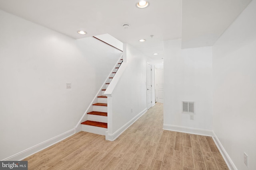
<instances>
[{"instance_id":1,"label":"white wall section around the square air vent","mask_svg":"<svg viewBox=\"0 0 256 170\"><path fill-rule=\"evenodd\" d=\"M195 102L194 120L181 113L182 101ZM181 49L180 39L164 41L164 129L212 130L212 47Z\"/></svg>"}]
</instances>

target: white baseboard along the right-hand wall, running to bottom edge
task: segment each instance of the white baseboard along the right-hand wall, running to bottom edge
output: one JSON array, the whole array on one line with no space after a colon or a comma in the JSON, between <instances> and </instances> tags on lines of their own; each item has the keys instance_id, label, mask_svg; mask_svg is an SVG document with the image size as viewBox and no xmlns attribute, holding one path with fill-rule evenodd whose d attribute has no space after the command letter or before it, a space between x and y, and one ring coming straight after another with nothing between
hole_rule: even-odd
<instances>
[{"instance_id":1,"label":"white baseboard along the right-hand wall, running to bottom edge","mask_svg":"<svg viewBox=\"0 0 256 170\"><path fill-rule=\"evenodd\" d=\"M214 140L214 143L216 144L216 146L218 147L222 157L224 158L228 168L230 170L238 170L235 166L235 164L232 162L231 158L229 157L228 153L226 152L226 150L224 149L224 147L221 145L218 137L216 136L216 134L214 132L212 132L212 139Z\"/></svg>"}]
</instances>

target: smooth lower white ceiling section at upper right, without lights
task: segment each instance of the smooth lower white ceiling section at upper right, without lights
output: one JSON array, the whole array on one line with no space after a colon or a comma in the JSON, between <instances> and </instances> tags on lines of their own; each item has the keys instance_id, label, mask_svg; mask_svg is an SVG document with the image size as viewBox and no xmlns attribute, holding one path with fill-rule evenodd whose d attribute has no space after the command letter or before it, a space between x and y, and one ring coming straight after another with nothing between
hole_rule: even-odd
<instances>
[{"instance_id":1,"label":"smooth lower white ceiling section at upper right, without lights","mask_svg":"<svg viewBox=\"0 0 256 170\"><path fill-rule=\"evenodd\" d=\"M182 0L182 48L212 46L252 0Z\"/></svg>"}]
</instances>

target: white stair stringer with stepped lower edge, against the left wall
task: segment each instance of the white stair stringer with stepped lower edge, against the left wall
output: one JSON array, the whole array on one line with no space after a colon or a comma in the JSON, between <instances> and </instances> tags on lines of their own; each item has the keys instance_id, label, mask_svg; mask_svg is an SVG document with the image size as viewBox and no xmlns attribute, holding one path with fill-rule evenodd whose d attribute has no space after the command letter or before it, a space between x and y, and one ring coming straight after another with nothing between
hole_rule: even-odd
<instances>
[{"instance_id":1,"label":"white stair stringer with stepped lower edge, against the left wall","mask_svg":"<svg viewBox=\"0 0 256 170\"><path fill-rule=\"evenodd\" d=\"M84 114L82 115L81 119L78 121L77 125L75 126L75 132L78 133L80 131L82 131L82 125L81 123L84 121L88 120L88 115L87 113L90 111L93 111L93 106L92 104L97 103L98 101L98 96L102 96L102 89L104 87L106 87L106 83L109 82L109 77L112 77L112 72L113 70L116 69L116 66L118 65L118 62L120 62L120 60L122 59L123 54L120 56L119 60L116 62L116 64L114 65L113 69L111 70L111 72L109 73L108 77L106 78L106 80L104 81L104 83L102 84L102 86L100 87L100 89L98 90L98 93L95 95L94 99L92 100L92 102L90 103L90 105L87 107L86 111L84 112Z\"/></svg>"}]
</instances>

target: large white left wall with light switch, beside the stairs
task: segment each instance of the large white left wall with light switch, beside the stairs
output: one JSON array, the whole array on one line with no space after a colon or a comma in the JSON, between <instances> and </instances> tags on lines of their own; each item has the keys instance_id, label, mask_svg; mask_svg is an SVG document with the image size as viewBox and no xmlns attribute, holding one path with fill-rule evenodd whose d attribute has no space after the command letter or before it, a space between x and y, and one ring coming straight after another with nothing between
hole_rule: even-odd
<instances>
[{"instance_id":1,"label":"large white left wall with light switch, beside the stairs","mask_svg":"<svg viewBox=\"0 0 256 170\"><path fill-rule=\"evenodd\" d=\"M1 10L0 25L3 160L74 129L120 52L94 38L75 40Z\"/></svg>"}]
</instances>

